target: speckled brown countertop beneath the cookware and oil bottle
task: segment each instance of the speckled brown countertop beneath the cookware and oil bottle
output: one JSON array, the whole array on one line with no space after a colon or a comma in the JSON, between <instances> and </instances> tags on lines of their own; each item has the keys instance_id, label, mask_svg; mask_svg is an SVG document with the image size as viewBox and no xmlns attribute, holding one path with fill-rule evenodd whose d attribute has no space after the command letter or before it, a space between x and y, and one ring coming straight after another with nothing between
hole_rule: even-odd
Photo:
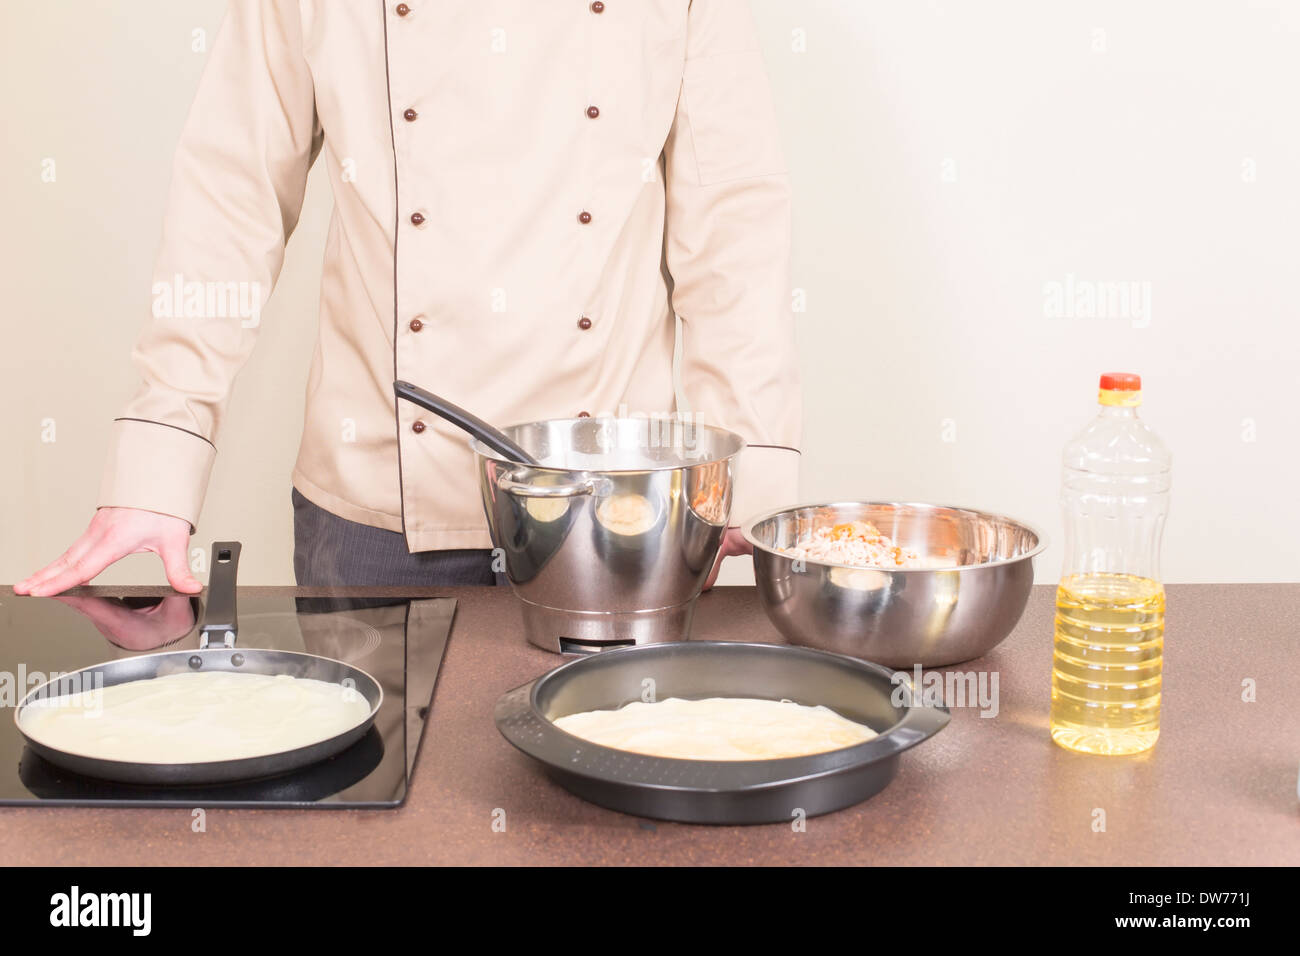
<instances>
[{"instance_id":1,"label":"speckled brown countertop beneath the cookware and oil bottle","mask_svg":"<svg viewBox=\"0 0 1300 956\"><path fill-rule=\"evenodd\" d=\"M426 594L459 607L400 809L209 810L202 834L188 810L0 809L0 862L1300 862L1296 584L1169 588L1161 739L1126 758L1076 756L1048 739L1053 589L1035 588L1015 632L959 667L997 672L997 717L954 709L946 730L904 756L884 792L809 819L805 832L650 822L551 784L498 735L493 705L559 658L524 643L504 589ZM694 635L777 640L751 588L705 594ZM1244 680L1254 682L1254 702L1242 698ZM494 810L506 813L504 832Z\"/></svg>"}]
</instances>

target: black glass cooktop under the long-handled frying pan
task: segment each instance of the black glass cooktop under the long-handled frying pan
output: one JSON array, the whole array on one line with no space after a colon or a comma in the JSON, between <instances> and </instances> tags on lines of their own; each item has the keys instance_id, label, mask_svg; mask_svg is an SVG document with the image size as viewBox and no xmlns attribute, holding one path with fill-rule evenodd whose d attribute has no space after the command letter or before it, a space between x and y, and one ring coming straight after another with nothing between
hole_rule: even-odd
<instances>
[{"instance_id":1,"label":"black glass cooktop under the long-handled frying pan","mask_svg":"<svg viewBox=\"0 0 1300 956\"><path fill-rule=\"evenodd\" d=\"M452 598L294 598L239 588L238 646L299 650L344 661L384 687L374 726L330 760L282 777L205 787L110 783L32 753L13 710L27 691L104 661L199 646L200 598L0 598L0 805L384 808L406 800Z\"/></svg>"}]
</instances>

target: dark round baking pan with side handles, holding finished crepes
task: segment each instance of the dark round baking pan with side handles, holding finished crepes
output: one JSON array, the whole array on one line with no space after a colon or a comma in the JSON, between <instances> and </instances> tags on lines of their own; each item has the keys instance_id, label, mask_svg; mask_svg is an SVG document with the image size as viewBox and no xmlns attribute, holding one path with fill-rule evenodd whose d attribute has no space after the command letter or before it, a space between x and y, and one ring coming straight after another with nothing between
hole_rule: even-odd
<instances>
[{"instance_id":1,"label":"dark round baking pan with side handles, holding finished crepes","mask_svg":"<svg viewBox=\"0 0 1300 956\"><path fill-rule=\"evenodd\" d=\"M668 697L823 704L879 736L806 757L705 761L616 750L552 723ZM688 823L789 822L850 806L884 790L900 754L949 719L946 708L924 704L906 675L896 680L887 667L811 648L731 641L606 650L560 665L497 702L502 735L566 790L624 813Z\"/></svg>"}]
</instances>

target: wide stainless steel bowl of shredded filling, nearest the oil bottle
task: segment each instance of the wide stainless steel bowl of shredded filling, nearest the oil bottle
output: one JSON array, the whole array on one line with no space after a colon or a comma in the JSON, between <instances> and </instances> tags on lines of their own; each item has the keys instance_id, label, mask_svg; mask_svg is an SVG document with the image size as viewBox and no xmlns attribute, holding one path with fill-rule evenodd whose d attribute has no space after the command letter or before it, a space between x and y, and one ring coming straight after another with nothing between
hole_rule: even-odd
<instances>
[{"instance_id":1,"label":"wide stainless steel bowl of shredded filling, nearest the oil bottle","mask_svg":"<svg viewBox=\"0 0 1300 956\"><path fill-rule=\"evenodd\" d=\"M842 522L870 522L926 567L797 561L781 549ZM1046 540L1027 524L961 507L900 502L806 505L745 525L767 617L793 644L890 667L982 657L1015 627Z\"/></svg>"}]
</instances>

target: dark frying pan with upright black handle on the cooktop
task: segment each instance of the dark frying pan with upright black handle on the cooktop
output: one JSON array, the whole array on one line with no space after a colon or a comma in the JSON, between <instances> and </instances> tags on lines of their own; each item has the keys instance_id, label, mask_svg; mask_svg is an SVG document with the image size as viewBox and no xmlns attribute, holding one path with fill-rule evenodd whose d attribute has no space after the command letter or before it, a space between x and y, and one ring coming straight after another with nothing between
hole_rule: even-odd
<instances>
[{"instance_id":1,"label":"dark frying pan with upright black handle on the cooktop","mask_svg":"<svg viewBox=\"0 0 1300 956\"><path fill-rule=\"evenodd\" d=\"M109 661L77 671L61 674L40 684L26 695L14 709L14 723L27 745L55 766L87 777L98 777L118 783L148 783L166 786L199 786L254 780L278 777L317 761L333 757L351 747L374 723L374 715L384 702L384 689L378 682L360 667L328 657L295 650L237 649L239 631L235 605L235 579L239 568L239 542L217 541L212 545L212 572L208 579L208 602L199 631L198 650L172 650L159 654L140 654L120 661ZM194 763L143 763L135 761L104 760L84 753L73 753L48 747L27 735L22 728L22 714L35 700L58 697L96 687L112 687L131 680L151 680L187 671L230 671L239 674L287 674L342 684L361 695L370 713L356 727L307 747L280 753L239 760L203 761Z\"/></svg>"}]
</instances>

